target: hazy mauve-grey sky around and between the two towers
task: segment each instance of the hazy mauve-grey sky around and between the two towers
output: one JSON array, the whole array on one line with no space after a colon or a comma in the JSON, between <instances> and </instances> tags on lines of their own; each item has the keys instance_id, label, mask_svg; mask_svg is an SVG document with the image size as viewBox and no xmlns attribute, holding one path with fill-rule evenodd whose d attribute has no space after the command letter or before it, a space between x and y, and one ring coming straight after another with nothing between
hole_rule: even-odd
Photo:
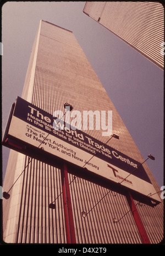
<instances>
[{"instance_id":1,"label":"hazy mauve-grey sky around and between the two towers","mask_svg":"<svg viewBox=\"0 0 165 256\"><path fill-rule=\"evenodd\" d=\"M163 183L164 72L83 13L85 2L6 2L2 6L2 134L23 91L40 20L71 30L158 185ZM161 47L160 47L161 50ZM3 177L9 149L3 147Z\"/></svg>"}]
</instances>

